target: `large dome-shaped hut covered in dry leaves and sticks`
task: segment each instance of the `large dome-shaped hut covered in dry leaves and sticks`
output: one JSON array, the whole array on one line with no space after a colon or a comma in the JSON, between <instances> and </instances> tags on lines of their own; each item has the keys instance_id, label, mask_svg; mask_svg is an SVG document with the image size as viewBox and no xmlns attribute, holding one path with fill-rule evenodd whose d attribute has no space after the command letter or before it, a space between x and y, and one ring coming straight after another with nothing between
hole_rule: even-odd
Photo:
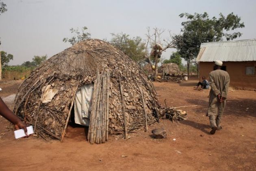
<instances>
[{"instance_id":1,"label":"large dome-shaped hut covered in dry leaves and sticks","mask_svg":"<svg viewBox=\"0 0 256 171\"><path fill-rule=\"evenodd\" d=\"M139 65L111 44L88 39L33 70L18 89L14 113L42 138L59 140L70 116L78 115L75 120L89 126L89 141L104 143L110 132L127 136L154 123L157 108L156 91Z\"/></svg>"}]
</instances>

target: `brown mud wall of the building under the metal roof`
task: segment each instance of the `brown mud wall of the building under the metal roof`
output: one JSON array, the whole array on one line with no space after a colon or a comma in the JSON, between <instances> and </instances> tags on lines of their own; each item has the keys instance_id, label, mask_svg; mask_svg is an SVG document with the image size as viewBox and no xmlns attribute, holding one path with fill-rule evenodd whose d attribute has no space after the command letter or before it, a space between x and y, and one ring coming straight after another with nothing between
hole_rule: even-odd
<instances>
[{"instance_id":1,"label":"brown mud wall of the building under the metal roof","mask_svg":"<svg viewBox=\"0 0 256 171\"><path fill-rule=\"evenodd\" d=\"M213 71L214 62L200 62L199 63L199 78L202 80L202 76L209 80L209 73ZM230 85L239 89L256 89L256 74L245 75L246 66L256 67L256 61L244 61L244 62L223 62L223 66L226 66L226 71L230 75ZM255 69L256 71L256 69Z\"/></svg>"}]
</instances>

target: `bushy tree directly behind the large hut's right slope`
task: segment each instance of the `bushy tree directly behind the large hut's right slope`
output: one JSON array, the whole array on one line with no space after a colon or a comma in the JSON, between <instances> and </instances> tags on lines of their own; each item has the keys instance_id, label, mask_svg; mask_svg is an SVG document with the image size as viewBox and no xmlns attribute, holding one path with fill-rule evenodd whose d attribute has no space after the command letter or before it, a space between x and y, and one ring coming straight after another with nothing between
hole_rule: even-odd
<instances>
[{"instance_id":1,"label":"bushy tree directly behind the large hut's right slope","mask_svg":"<svg viewBox=\"0 0 256 171\"><path fill-rule=\"evenodd\" d=\"M143 64L144 56L146 54L145 43L142 41L141 37L130 38L129 35L125 33L114 34L111 33L112 39L110 43L117 49L123 51L127 56L132 58L140 66Z\"/></svg>"}]
</instances>

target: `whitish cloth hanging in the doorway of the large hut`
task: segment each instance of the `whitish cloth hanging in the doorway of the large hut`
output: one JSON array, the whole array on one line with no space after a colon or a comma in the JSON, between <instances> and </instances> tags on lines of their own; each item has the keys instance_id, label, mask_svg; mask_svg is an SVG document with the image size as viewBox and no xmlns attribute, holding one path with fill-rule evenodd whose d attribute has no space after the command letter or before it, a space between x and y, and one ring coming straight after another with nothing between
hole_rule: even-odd
<instances>
[{"instance_id":1,"label":"whitish cloth hanging in the doorway of the large hut","mask_svg":"<svg viewBox=\"0 0 256 171\"><path fill-rule=\"evenodd\" d=\"M93 84L85 84L78 88L74 101L75 123L90 125Z\"/></svg>"}]
</instances>

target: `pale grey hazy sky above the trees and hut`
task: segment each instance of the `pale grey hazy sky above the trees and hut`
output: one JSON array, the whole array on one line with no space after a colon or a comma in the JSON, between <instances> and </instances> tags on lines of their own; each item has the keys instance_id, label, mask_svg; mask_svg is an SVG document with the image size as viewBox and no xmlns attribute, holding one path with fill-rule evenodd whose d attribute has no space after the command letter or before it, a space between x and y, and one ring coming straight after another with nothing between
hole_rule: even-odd
<instances>
[{"instance_id":1,"label":"pale grey hazy sky above the trees and hut","mask_svg":"<svg viewBox=\"0 0 256 171\"><path fill-rule=\"evenodd\" d=\"M239 39L256 38L255 0L1 0L8 11L0 15L0 50L14 55L10 65L31 61L35 55L49 57L70 47L64 37L69 29L87 26L92 38L111 39L124 32L145 39L148 26L179 34L180 13L203 13L210 17L239 15L245 28ZM237 40L239 40L237 39ZM169 50L163 56L169 58Z\"/></svg>"}]
</instances>

